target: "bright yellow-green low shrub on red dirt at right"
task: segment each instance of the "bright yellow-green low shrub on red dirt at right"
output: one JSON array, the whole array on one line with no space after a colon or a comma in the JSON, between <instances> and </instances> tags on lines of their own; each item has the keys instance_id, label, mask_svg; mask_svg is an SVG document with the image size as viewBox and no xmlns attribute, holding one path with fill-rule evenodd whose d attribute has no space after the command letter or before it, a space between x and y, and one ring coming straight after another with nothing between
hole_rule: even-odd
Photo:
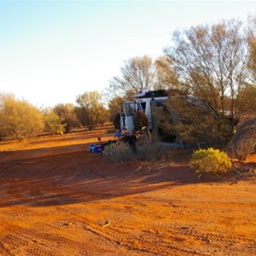
<instances>
[{"instance_id":1,"label":"bright yellow-green low shrub on red dirt at right","mask_svg":"<svg viewBox=\"0 0 256 256\"><path fill-rule=\"evenodd\" d=\"M195 151L190 160L190 167L195 167L195 172L201 174L224 173L230 171L232 164L228 155L218 149L207 148Z\"/></svg>"}]
</instances>

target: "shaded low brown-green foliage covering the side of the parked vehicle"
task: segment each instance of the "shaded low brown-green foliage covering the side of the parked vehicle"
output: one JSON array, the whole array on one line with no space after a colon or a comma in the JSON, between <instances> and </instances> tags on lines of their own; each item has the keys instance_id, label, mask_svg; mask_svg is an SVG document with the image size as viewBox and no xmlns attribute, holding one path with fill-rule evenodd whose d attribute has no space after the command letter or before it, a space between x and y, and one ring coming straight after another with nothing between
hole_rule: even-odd
<instances>
[{"instance_id":1,"label":"shaded low brown-green foliage covering the side of the parked vehicle","mask_svg":"<svg viewBox=\"0 0 256 256\"><path fill-rule=\"evenodd\" d=\"M169 119L160 129L177 135L186 143L225 142L233 135L233 119L217 117L205 102L191 96L171 96L166 102Z\"/></svg>"}]
</instances>

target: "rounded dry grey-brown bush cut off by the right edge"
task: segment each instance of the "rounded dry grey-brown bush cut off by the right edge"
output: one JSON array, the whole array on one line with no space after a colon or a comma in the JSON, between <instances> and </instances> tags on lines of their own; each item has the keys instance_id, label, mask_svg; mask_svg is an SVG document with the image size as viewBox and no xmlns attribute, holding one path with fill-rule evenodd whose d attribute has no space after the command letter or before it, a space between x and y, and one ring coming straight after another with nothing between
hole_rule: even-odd
<instances>
[{"instance_id":1,"label":"rounded dry grey-brown bush cut off by the right edge","mask_svg":"<svg viewBox=\"0 0 256 256\"><path fill-rule=\"evenodd\" d=\"M253 153L256 149L256 118L247 119L237 127L230 149L231 154L239 160L246 160Z\"/></svg>"}]
</instances>

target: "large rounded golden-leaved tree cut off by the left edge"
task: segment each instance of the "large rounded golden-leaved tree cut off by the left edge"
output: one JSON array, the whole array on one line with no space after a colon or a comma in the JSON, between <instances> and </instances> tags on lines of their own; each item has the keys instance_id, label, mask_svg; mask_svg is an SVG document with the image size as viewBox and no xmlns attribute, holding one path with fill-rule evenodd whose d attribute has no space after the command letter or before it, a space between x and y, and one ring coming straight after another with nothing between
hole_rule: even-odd
<instances>
[{"instance_id":1,"label":"large rounded golden-leaved tree cut off by the left edge","mask_svg":"<svg viewBox=\"0 0 256 256\"><path fill-rule=\"evenodd\" d=\"M0 131L3 139L18 139L38 135L44 129L42 113L26 101L14 96L2 96Z\"/></svg>"}]
</instances>

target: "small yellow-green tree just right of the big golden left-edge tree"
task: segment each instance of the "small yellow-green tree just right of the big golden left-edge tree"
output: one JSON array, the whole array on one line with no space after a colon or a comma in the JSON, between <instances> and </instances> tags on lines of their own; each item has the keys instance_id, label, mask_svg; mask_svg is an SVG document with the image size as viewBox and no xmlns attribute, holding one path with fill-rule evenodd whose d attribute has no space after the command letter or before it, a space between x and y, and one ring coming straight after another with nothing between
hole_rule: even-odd
<instances>
[{"instance_id":1,"label":"small yellow-green tree just right of the big golden left-edge tree","mask_svg":"<svg viewBox=\"0 0 256 256\"><path fill-rule=\"evenodd\" d=\"M55 113L53 109L44 111L44 130L51 134L63 135L66 124L61 123L61 118Z\"/></svg>"}]
</instances>

